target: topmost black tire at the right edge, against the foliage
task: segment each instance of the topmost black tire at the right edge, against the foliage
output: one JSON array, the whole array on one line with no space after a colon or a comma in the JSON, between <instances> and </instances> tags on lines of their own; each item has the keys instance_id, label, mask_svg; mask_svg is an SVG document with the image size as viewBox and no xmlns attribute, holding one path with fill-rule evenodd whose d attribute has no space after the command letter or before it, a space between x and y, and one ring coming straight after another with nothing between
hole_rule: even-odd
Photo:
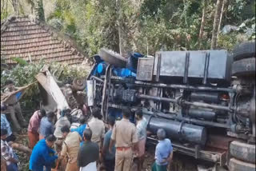
<instances>
[{"instance_id":1,"label":"topmost black tire at the right edge, against the foliage","mask_svg":"<svg viewBox=\"0 0 256 171\"><path fill-rule=\"evenodd\" d=\"M243 58L255 57L255 42L242 42L234 47L233 58L234 61L238 61Z\"/></svg>"}]
</instances>

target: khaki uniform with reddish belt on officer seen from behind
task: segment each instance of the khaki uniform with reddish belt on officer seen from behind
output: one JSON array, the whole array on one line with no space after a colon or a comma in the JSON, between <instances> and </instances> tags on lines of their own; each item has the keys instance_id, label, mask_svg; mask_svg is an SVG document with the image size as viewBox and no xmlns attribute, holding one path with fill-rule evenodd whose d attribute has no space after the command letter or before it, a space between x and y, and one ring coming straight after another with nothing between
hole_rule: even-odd
<instances>
[{"instance_id":1,"label":"khaki uniform with reddish belt on officer seen from behind","mask_svg":"<svg viewBox=\"0 0 256 171\"><path fill-rule=\"evenodd\" d=\"M132 145L138 142L136 127L123 118L114 125L111 139L115 141L115 171L130 171L133 161Z\"/></svg>"}]
</instances>

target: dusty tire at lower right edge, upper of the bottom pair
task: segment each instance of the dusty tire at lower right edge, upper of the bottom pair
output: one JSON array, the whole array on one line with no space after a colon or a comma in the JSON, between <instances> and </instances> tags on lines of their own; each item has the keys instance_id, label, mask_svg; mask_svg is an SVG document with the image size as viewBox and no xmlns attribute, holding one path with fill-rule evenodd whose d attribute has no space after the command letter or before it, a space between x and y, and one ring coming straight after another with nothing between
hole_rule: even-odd
<instances>
[{"instance_id":1,"label":"dusty tire at lower right edge, upper of the bottom pair","mask_svg":"<svg viewBox=\"0 0 256 171\"><path fill-rule=\"evenodd\" d=\"M246 144L242 141L232 141L230 154L241 161L255 163L255 145Z\"/></svg>"}]
</instances>

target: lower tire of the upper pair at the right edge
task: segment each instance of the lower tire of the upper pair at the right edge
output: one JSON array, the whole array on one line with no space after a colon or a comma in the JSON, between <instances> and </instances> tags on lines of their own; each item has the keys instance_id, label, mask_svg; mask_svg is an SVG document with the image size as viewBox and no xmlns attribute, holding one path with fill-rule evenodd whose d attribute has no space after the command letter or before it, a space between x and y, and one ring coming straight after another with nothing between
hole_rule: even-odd
<instances>
[{"instance_id":1,"label":"lower tire of the upper pair at the right edge","mask_svg":"<svg viewBox=\"0 0 256 171\"><path fill-rule=\"evenodd\" d=\"M232 75L250 76L255 74L255 58L245 58L232 64Z\"/></svg>"}]
</instances>

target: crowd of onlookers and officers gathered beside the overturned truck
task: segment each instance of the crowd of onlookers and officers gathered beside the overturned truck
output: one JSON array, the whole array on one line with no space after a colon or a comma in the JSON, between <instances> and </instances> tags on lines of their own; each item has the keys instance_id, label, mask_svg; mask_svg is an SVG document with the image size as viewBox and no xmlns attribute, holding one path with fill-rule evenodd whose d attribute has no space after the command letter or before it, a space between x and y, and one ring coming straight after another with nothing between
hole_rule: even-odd
<instances>
[{"instance_id":1,"label":"crowd of onlookers and officers gathered beside the overturned truck","mask_svg":"<svg viewBox=\"0 0 256 171\"><path fill-rule=\"evenodd\" d=\"M7 107L1 103L1 169L18 170L18 157L10 142L15 141L6 119ZM39 109L30 117L27 127L31 171L130 171L134 161L138 171L143 169L147 137L147 121L142 111L135 112L135 124L130 121L130 109L122 110L122 119L108 116L102 121L98 107L91 109L92 117L81 115L79 125L72 126L70 109L48 111ZM57 115L60 115L57 119ZM15 123L15 122L14 122ZM173 157L170 139L164 129L158 129L153 171L167 170ZM5 167L5 168L2 168Z\"/></svg>"}]
</instances>

